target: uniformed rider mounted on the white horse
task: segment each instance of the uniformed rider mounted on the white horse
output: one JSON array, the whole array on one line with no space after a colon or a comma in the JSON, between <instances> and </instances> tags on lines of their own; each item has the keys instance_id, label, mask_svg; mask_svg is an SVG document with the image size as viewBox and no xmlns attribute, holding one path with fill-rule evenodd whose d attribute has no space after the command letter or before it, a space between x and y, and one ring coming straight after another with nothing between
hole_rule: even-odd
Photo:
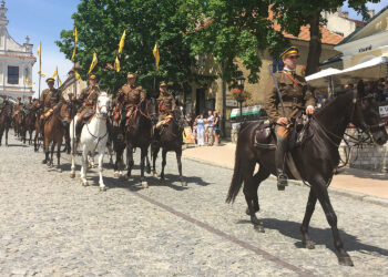
<instances>
[{"instance_id":1,"label":"uniformed rider mounted on the white horse","mask_svg":"<svg viewBox=\"0 0 388 277\"><path fill-rule=\"evenodd\" d=\"M84 119L89 119L93 114L96 100L100 95L100 86L96 84L96 76L94 74L89 76L89 86L81 91L78 103L82 104L79 109L78 121L75 124L75 142L80 141L81 131ZM85 116L86 115L86 116Z\"/></svg>"}]
</instances>

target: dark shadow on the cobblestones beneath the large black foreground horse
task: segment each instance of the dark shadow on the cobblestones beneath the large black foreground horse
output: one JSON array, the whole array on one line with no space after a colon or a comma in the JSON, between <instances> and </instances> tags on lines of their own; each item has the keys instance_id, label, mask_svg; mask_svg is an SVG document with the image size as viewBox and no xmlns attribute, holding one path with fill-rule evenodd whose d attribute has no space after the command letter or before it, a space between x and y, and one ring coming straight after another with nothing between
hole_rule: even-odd
<instances>
[{"instance_id":1,"label":"dark shadow on the cobblestones beneath the large black foreground horse","mask_svg":"<svg viewBox=\"0 0 388 277\"><path fill-rule=\"evenodd\" d=\"M276 218L261 218L264 224L265 229L275 229L278 230L282 235L297 239L295 243L297 248L304 248L302 244L302 233L300 233L300 224L296 222L289 220L279 220ZM252 224L251 220L238 220L237 224ZM335 252L333 245L333 235L330 228L316 228L309 227L308 233L315 243L315 245L325 245L331 252ZM370 253L377 253L382 256L388 256L388 249L384 249L377 246L363 244L356 236L353 236L344 230L339 229L339 235L344 242L345 249L348 252L360 252L364 254L370 255Z\"/></svg>"}]
</instances>

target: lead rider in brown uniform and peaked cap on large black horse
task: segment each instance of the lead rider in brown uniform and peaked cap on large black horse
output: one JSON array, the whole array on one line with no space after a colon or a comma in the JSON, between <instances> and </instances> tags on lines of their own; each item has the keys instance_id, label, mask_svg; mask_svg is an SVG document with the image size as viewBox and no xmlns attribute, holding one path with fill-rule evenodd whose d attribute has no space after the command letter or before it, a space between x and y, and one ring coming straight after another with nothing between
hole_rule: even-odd
<instances>
[{"instance_id":1,"label":"lead rider in brown uniform and peaked cap on large black horse","mask_svg":"<svg viewBox=\"0 0 388 277\"><path fill-rule=\"evenodd\" d=\"M275 165L277 172L277 188L284 191L287 185L287 175L284 171L285 155L288 146L288 131L290 119L306 107L307 114L315 112L315 99L308 89L306 80L296 74L295 69L299 58L299 50L290 47L280 54L284 62L284 69L276 72L275 80L278 84L280 96L284 102L286 114L282 112L282 104L278 99L277 90L274 81L269 81L269 90L266 90L265 110L269 122L275 124L275 134L277 138L277 147L275 152Z\"/></svg>"}]
</instances>

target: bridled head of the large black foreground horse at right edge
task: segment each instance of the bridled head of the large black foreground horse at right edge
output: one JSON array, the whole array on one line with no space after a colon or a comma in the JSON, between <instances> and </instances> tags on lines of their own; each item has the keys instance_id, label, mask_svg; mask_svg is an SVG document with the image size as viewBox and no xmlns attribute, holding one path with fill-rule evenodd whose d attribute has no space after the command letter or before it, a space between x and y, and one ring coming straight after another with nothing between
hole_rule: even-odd
<instances>
[{"instance_id":1,"label":"bridled head of the large black foreground horse at right edge","mask_svg":"<svg viewBox=\"0 0 388 277\"><path fill-rule=\"evenodd\" d=\"M378 90L377 85L377 82L367 84L363 80L358 82L351 123L366 132L375 143L382 145L388 141L388 134L374 96Z\"/></svg>"}]
</instances>

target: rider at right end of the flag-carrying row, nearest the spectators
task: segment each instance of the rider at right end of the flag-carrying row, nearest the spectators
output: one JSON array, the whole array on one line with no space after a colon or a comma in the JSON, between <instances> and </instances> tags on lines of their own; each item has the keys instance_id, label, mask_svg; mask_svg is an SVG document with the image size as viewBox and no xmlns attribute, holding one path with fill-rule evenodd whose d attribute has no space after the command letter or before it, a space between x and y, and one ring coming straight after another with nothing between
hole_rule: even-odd
<instances>
[{"instance_id":1,"label":"rider at right end of the flag-carrying row, nearest the spectators","mask_svg":"<svg viewBox=\"0 0 388 277\"><path fill-rule=\"evenodd\" d=\"M159 98L157 98L157 110L159 110L159 121L156 124L156 130L162 125L166 125L172 117L171 113L175 110L175 99L174 95L167 91L167 83L162 81L159 86ZM170 115L170 116L169 116Z\"/></svg>"}]
</instances>

